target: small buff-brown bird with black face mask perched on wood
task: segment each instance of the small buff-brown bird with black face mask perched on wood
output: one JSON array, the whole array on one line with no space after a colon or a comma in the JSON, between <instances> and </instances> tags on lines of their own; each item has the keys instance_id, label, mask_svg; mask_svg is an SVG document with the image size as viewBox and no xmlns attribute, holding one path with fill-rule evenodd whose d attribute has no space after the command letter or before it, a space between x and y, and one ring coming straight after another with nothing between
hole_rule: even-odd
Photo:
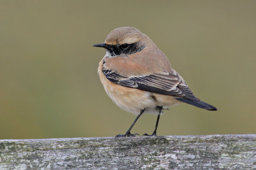
<instances>
[{"instance_id":1,"label":"small buff-brown bird with black face mask perched on wood","mask_svg":"<svg viewBox=\"0 0 256 170\"><path fill-rule=\"evenodd\" d=\"M139 29L118 27L106 36L104 43L93 46L106 49L98 67L106 93L122 110L137 115L127 132L117 134L116 138L139 135L132 134L131 129L143 113L157 115L154 132L143 136L157 136L160 115L174 104L217 110L195 97L166 55Z\"/></svg>"}]
</instances>

